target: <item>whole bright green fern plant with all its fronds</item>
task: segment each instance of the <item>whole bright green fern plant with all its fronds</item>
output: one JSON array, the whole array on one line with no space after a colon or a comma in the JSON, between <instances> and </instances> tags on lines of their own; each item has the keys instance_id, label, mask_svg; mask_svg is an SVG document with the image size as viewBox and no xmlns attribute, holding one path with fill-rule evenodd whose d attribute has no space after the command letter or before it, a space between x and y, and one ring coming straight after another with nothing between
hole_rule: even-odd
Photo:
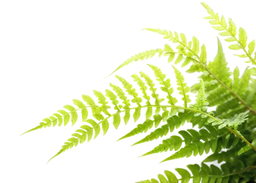
<instances>
[{"instance_id":1,"label":"whole bright green fern plant with all its fronds","mask_svg":"<svg viewBox=\"0 0 256 183\"><path fill-rule=\"evenodd\" d=\"M162 48L138 52L116 66L107 77L114 75L120 84L109 82L109 88L93 89L96 100L91 95L82 94L80 99L72 99L72 103L63 105L20 136L57 126L75 126L80 118L81 125L49 158L46 162L49 164L72 148L90 143L100 134L108 134L111 125L118 130L121 124L126 126L133 122L136 126L120 136L116 143L141 134L144 134L143 138L131 144L132 147L161 139L138 158L171 152L158 163L163 164L207 155L199 164L165 169L156 177L138 182L256 181L255 38L248 41L246 30L238 28L232 19L217 13L205 2L201 2L201 6L206 11L204 19L229 44L228 49L243 51L233 54L247 64L242 75L238 66L233 70L228 67L219 37L217 53L209 60L206 44L196 36L188 39L184 32L144 28L142 32L158 34L167 43ZM167 58L175 74L176 87L160 66L149 62L146 66L155 79L144 71L130 75L141 95L131 81L116 74L127 65L156 56ZM198 81L190 86L177 65L186 73L197 73ZM174 96L176 91L179 98ZM195 95L194 101L190 94ZM144 121L138 123L142 116ZM185 124L197 129L181 129Z\"/></svg>"}]
</instances>

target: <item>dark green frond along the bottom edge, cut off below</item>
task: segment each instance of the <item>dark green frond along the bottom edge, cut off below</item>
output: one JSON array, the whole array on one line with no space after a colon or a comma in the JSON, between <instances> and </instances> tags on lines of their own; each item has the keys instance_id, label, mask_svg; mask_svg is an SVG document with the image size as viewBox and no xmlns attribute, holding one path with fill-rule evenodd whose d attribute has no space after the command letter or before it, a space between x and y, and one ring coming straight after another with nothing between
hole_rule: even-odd
<instances>
[{"instance_id":1,"label":"dark green frond along the bottom edge, cut off below","mask_svg":"<svg viewBox=\"0 0 256 183\"><path fill-rule=\"evenodd\" d=\"M256 154L248 151L239 157L236 154L238 148L211 154L199 164L188 164L174 170L164 169L157 176L135 182L248 182L256 176Z\"/></svg>"}]
</instances>

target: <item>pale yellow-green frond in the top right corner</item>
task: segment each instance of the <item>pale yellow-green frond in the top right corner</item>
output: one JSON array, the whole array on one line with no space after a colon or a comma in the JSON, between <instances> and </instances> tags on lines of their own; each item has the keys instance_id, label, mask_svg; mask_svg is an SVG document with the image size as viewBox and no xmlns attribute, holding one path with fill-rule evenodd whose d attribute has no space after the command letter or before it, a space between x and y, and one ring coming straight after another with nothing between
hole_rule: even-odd
<instances>
[{"instance_id":1,"label":"pale yellow-green frond in the top right corner","mask_svg":"<svg viewBox=\"0 0 256 183\"><path fill-rule=\"evenodd\" d=\"M227 18L225 15L216 12L208 3L202 1L200 5L206 11L206 16L203 19L207 20L210 27L224 38L225 42L229 44L228 49L231 51L243 51L243 53L233 53L233 56L245 59L246 63L256 65L255 55L253 57L256 48L255 38L247 44L249 35L244 27L238 28L232 18Z\"/></svg>"}]
</instances>

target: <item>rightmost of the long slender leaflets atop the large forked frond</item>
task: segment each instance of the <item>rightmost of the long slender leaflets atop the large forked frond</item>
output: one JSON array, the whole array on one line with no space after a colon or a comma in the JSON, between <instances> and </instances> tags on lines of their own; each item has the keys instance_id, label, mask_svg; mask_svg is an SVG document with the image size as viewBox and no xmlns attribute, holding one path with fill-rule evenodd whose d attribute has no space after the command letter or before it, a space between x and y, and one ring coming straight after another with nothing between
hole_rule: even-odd
<instances>
[{"instance_id":1,"label":"rightmost of the long slender leaflets atop the large forked frond","mask_svg":"<svg viewBox=\"0 0 256 183\"><path fill-rule=\"evenodd\" d=\"M172 64L172 68L176 78L177 94L181 96L184 107L187 107L187 105L192 101L189 95L189 84L186 82L186 77L175 65Z\"/></svg>"}]
</instances>

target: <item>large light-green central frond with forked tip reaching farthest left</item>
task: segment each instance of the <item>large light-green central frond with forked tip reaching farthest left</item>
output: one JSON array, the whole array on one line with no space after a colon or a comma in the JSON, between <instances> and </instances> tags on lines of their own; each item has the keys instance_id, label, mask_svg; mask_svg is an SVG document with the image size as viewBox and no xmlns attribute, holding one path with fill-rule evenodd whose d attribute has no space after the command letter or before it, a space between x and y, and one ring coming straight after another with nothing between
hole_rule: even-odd
<instances>
[{"instance_id":1,"label":"large light-green central frond with forked tip reaching farthest left","mask_svg":"<svg viewBox=\"0 0 256 183\"><path fill-rule=\"evenodd\" d=\"M129 134L125 134L126 136L119 139L127 139L134 135L146 133L148 130L153 130L154 128L152 132L145 135L145 137L139 141L139 143L145 143L148 142L148 140L151 141L164 137L168 135L170 131L173 132L174 130L184 126L186 123L189 123L191 120L189 119L190 115L184 115L189 110L185 111L182 109L182 107L178 105L178 100L173 96L177 89L177 93L181 96L184 95L184 99L186 99L186 101L189 101L190 99L190 97L188 98L186 96L189 91L186 88L188 84L185 79L181 77L182 74L176 71L177 87L173 88L172 82L169 82L171 81L170 78L168 78L167 75L159 69L159 66L155 66L153 64L148 64L148 66L152 68L152 73L156 76L156 82L160 84L159 87L156 85L156 82L144 72L132 74L131 78L142 94L139 95L138 90L130 81L116 75L115 77L121 85L110 82L110 88L105 88L103 91L92 90L94 98L89 94L82 94L80 95L81 99L72 99L72 103L64 105L61 109L58 109L57 112L54 112L53 115L42 119L42 123L39 123L33 127L33 129L39 129L39 127L41 127L40 125L45 125L47 127L54 127L56 124L63 124L67 126L69 123L71 123L71 125L75 125L79 119L79 111L82 122L81 126L88 126L89 122L91 122L88 127L83 126L83 128L86 129L90 128L90 133L81 132L79 134L81 136L79 136L78 141L82 142L80 139L84 140L84 135L91 135L91 131L96 131L97 135L102 134L104 136L108 134L111 124L115 130L118 130L121 123L127 125L131 122L131 118L133 118L136 123L136 121L138 121L143 115L142 110L145 109L145 121L136 125ZM164 97L160 97L158 89L164 91ZM150 91L150 93L148 93L148 91ZM132 99L130 99L129 96L132 97ZM167 101L167 104L163 105L163 101ZM182 115L183 117L181 118ZM202 124L206 122L206 118L204 120L205 121L202 121ZM95 123L92 121L95 121ZM165 127L167 128L165 129ZM78 130L80 130L80 128ZM27 131L27 133L29 132L31 131ZM50 161L58 155L67 152L67 147L70 149L71 145L74 145L73 147L78 145L77 141L73 142L73 140L77 140L77 133L72 133L71 136L74 135L76 136L76 139L71 138L72 143L70 140L67 141L69 142L69 146L61 146L61 149L63 150L57 151L50 158ZM85 142L90 142L90 139L88 139L88 141L84 141L84 143ZM136 145L136 143L138 142L135 142L134 145Z\"/></svg>"}]
</instances>

